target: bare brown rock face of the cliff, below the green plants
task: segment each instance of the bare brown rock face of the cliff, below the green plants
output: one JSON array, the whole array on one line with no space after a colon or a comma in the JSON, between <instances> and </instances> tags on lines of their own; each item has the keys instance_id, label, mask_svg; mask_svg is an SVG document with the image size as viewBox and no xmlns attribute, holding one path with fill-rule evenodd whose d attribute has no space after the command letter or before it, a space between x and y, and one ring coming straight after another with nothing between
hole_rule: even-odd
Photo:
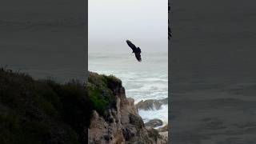
<instances>
[{"instance_id":1,"label":"bare brown rock face of the cliff, below the green plants","mask_svg":"<svg viewBox=\"0 0 256 144\"><path fill-rule=\"evenodd\" d=\"M126 98L122 84L110 85L115 95L116 106L106 110L105 116L96 111L90 120L88 143L90 144L164 144L167 138L158 130L146 128L133 98Z\"/></svg>"}]
</instances>

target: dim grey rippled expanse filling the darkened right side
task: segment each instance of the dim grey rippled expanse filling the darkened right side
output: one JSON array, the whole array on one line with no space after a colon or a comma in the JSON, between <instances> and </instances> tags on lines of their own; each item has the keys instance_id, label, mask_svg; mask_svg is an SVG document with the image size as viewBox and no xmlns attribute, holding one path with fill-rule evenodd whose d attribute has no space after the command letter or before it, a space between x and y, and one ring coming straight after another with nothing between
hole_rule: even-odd
<instances>
[{"instance_id":1,"label":"dim grey rippled expanse filling the darkened right side","mask_svg":"<svg viewBox=\"0 0 256 144\"><path fill-rule=\"evenodd\" d=\"M171 143L254 144L255 1L173 3Z\"/></svg>"}]
</instances>

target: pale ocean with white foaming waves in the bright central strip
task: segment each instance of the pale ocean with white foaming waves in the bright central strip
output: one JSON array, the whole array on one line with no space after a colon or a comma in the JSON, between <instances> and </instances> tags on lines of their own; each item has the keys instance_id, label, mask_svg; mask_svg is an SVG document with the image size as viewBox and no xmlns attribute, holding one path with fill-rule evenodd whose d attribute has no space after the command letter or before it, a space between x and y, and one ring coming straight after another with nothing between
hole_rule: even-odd
<instances>
[{"instance_id":1,"label":"pale ocean with white foaming waves in the bright central strip","mask_svg":"<svg viewBox=\"0 0 256 144\"><path fill-rule=\"evenodd\" d=\"M168 54L167 52L142 52L142 62L132 53L90 53L89 70L98 74L114 74L122 80L126 97L135 103L146 99L168 97ZM159 118L168 122L168 106L160 110L140 110L144 122Z\"/></svg>"}]
</instances>

